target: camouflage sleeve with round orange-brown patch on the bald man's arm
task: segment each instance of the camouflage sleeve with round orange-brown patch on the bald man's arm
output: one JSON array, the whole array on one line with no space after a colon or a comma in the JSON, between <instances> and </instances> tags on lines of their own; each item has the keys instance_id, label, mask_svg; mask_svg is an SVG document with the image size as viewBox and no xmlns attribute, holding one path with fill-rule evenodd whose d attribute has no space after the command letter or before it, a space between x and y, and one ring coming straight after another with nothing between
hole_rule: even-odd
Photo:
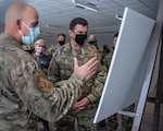
<instances>
[{"instance_id":1,"label":"camouflage sleeve with round orange-brown patch on the bald man's arm","mask_svg":"<svg viewBox=\"0 0 163 131\"><path fill-rule=\"evenodd\" d=\"M10 73L12 86L24 105L48 121L61 119L82 94L84 78L72 74L67 81L53 84L34 60L18 60Z\"/></svg>"}]
</instances>

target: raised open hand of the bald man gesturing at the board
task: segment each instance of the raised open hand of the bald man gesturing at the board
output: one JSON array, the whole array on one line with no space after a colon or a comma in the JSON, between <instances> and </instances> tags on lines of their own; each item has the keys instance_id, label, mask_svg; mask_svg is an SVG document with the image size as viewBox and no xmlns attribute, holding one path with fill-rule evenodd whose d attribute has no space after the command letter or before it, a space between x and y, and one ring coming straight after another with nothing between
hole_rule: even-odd
<instances>
[{"instance_id":1,"label":"raised open hand of the bald man gesturing at the board","mask_svg":"<svg viewBox=\"0 0 163 131\"><path fill-rule=\"evenodd\" d=\"M96 73L98 68L98 60L96 58L90 59L87 63L78 67L77 58L74 58L74 73L83 75L85 81L88 81Z\"/></svg>"}]
</instances>

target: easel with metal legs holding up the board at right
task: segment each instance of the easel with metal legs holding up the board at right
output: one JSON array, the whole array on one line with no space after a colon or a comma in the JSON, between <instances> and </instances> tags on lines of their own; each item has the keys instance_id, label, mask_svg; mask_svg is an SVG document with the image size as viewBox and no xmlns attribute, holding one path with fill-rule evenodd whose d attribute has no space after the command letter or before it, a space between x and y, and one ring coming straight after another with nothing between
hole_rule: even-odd
<instances>
[{"instance_id":1,"label":"easel with metal legs holding up the board at right","mask_svg":"<svg viewBox=\"0 0 163 131\"><path fill-rule=\"evenodd\" d=\"M153 34L152 34L150 43L149 43L151 45L151 51L150 51L150 56L149 56L149 61L148 61L148 67L147 67L146 75L145 75L145 81L142 84L141 94L140 94L139 102L137 105L137 110L136 110L136 112L118 111L118 114L121 114L121 115L125 115L125 116L134 118L131 131L139 130L143 109L145 109L147 100L155 104L153 124L152 124L151 131L158 131L158 127L159 127L160 108L161 108L162 94L163 94L163 34L162 34L163 8L162 7L163 7L163 0L160 0L155 27L153 29ZM160 43L161 37L162 37L162 41ZM160 69L159 69L156 96L155 96L155 98L150 98L150 97L148 98L148 92L149 92L149 87L150 87L150 81L151 81L151 75L153 72L153 67L154 67L154 61L155 61L155 56L156 56L156 51L159 48L159 44L161 44L161 57L160 57Z\"/></svg>"}]
</instances>

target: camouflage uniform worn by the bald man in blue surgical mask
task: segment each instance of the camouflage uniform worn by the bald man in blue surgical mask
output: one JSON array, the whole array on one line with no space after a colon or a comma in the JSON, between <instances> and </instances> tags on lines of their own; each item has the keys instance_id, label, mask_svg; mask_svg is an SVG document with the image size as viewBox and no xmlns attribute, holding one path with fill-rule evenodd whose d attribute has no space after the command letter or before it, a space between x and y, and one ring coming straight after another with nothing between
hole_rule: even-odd
<instances>
[{"instance_id":1,"label":"camouflage uniform worn by the bald man in blue surgical mask","mask_svg":"<svg viewBox=\"0 0 163 131\"><path fill-rule=\"evenodd\" d=\"M77 74L53 86L15 38L0 35L0 131L36 131L29 124L32 111L55 122L80 96L83 86L84 78Z\"/></svg>"}]
</instances>

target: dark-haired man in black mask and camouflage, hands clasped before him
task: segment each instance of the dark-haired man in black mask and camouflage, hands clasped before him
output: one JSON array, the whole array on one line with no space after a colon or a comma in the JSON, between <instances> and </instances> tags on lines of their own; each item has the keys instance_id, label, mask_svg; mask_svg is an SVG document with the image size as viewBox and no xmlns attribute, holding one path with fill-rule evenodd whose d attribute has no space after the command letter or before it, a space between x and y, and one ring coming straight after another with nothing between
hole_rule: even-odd
<instances>
[{"instance_id":1,"label":"dark-haired man in black mask and camouflage, hands clasped before him","mask_svg":"<svg viewBox=\"0 0 163 131\"><path fill-rule=\"evenodd\" d=\"M72 20L68 34L71 41L58 49L49 64L48 76L52 81L66 80L73 73L73 58L77 57L79 64L84 64L89 59L99 59L98 50L90 44L85 44L87 38L88 23L83 17ZM55 123L58 131L74 130L74 121L77 120L79 131L95 131L93 118L99 104L106 78L106 68L99 62L97 73L85 84L82 96L74 104L74 108L68 111L63 119ZM65 126L65 123L67 123Z\"/></svg>"}]
</instances>

